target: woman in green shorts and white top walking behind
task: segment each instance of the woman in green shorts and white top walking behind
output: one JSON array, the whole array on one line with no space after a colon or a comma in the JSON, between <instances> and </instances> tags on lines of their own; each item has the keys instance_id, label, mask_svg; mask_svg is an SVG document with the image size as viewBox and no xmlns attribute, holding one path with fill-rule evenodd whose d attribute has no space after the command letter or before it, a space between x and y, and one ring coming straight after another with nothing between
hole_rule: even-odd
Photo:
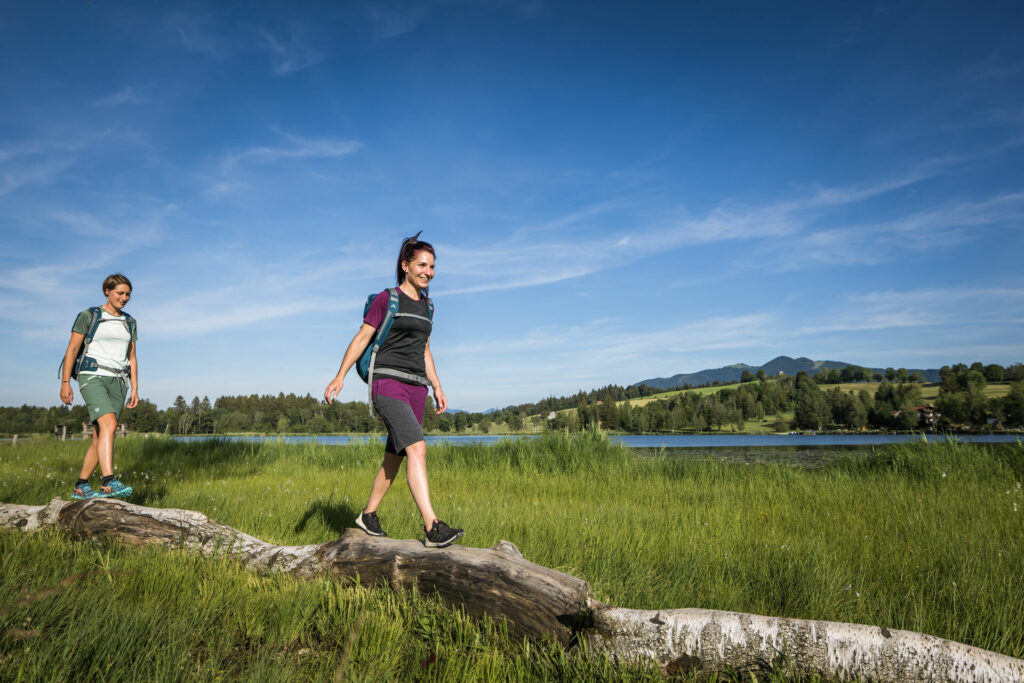
<instances>
[{"instance_id":1,"label":"woman in green shorts and white top walking behind","mask_svg":"<svg viewBox=\"0 0 1024 683\"><path fill-rule=\"evenodd\" d=\"M124 311L131 298L131 283L121 273L114 273L103 281L103 296L106 302L102 306L87 308L75 318L60 373L60 400L71 405L75 398L71 388L72 370L84 343L78 387L92 420L92 442L85 453L82 472L71 495L76 501L128 498L132 492L131 486L126 486L114 476L114 432L118 428L121 409L125 405L128 382L131 384L128 408L135 408L138 403L135 319ZM86 341L90 332L92 337ZM89 476L97 464L103 475L99 490L89 485Z\"/></svg>"}]
</instances>

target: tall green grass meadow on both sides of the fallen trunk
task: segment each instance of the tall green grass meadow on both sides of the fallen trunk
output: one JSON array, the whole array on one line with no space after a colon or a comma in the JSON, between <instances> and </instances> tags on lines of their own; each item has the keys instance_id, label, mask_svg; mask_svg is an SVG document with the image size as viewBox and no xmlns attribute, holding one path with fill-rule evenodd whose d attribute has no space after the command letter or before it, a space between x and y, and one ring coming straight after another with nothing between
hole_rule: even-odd
<instances>
[{"instance_id":1,"label":"tall green grass meadow on both sides of the fallen trunk","mask_svg":"<svg viewBox=\"0 0 1024 683\"><path fill-rule=\"evenodd\" d=\"M83 443L0 445L0 501L70 493ZM127 437L132 503L278 544L333 540L379 446ZM464 543L514 543L624 607L874 624L1024 657L1024 445L911 443L816 470L638 456L600 434L432 446ZM421 538L399 479L388 533ZM0 680L657 680L519 641L429 596L258 577L229 558L0 531ZM770 678L783 678L769 672Z\"/></svg>"}]
</instances>

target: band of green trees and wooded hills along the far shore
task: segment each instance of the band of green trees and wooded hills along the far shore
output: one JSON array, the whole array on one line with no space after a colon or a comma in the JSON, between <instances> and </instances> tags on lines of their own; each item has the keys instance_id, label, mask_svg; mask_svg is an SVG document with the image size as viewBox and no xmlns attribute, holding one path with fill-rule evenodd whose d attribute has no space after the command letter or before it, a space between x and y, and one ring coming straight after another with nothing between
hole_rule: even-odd
<instances>
[{"instance_id":1,"label":"band of green trees and wooded hills along the far shore","mask_svg":"<svg viewBox=\"0 0 1024 683\"><path fill-rule=\"evenodd\" d=\"M891 371L891 372L890 372ZM768 423L788 429L977 429L988 426L1015 428L1024 425L1024 366L1009 368L976 362L957 364L939 371L939 394L933 405L921 396L920 377L903 369L887 369L877 377L865 368L850 366L842 371L815 375L765 377L746 373L735 386L715 393L683 392L646 404L634 400L663 393L649 386L607 385L570 396L547 397L488 413L437 415L428 398L424 429L439 432L488 432L493 425L508 431L556 429L577 431L601 427L626 432L673 432L735 429L746 423ZM845 391L829 385L881 380L872 393L866 389ZM839 378L839 379L837 379ZM1010 382L1006 396L989 398L990 382ZM681 387L683 389L693 387ZM790 414L792 413L792 418ZM0 433L53 433L61 426L77 431L88 421L85 405L0 408ZM370 433L384 425L371 418L367 404L358 401L328 405L306 394L221 396L216 401L196 396L190 401L175 398L160 410L141 399L122 413L122 422L132 431L166 434L229 433Z\"/></svg>"}]
</instances>

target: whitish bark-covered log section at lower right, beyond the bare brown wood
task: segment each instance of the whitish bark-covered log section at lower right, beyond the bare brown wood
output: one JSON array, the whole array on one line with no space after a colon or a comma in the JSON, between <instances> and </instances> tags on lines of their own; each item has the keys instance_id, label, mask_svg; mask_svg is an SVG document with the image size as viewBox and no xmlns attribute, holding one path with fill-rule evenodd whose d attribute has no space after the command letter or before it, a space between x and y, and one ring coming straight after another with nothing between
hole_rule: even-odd
<instances>
[{"instance_id":1,"label":"whitish bark-covered log section at lower right, beyond the bare brown wood","mask_svg":"<svg viewBox=\"0 0 1024 683\"><path fill-rule=\"evenodd\" d=\"M1024 660L912 631L714 609L595 610L588 643L668 673L764 672L835 680L1024 681Z\"/></svg>"}]
</instances>

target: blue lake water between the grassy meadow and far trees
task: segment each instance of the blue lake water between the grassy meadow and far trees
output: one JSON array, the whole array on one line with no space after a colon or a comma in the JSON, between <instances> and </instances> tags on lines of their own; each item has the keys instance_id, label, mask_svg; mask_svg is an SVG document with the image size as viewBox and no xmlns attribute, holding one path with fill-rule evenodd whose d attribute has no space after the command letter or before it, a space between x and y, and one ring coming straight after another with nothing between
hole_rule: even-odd
<instances>
[{"instance_id":1,"label":"blue lake water between the grassy meadow and far trees","mask_svg":"<svg viewBox=\"0 0 1024 683\"><path fill-rule=\"evenodd\" d=\"M182 436L178 438L210 438ZM368 441L384 442L382 436L293 435L293 436L230 436L232 440L283 441L345 445ZM505 439L531 439L536 435L484 436L447 435L427 436L427 443L497 443ZM981 434L944 436L929 434L623 434L609 436L647 456L719 460L732 463L781 463L804 468L817 468L836 460L857 454L867 454L887 443L906 441L930 442L955 438L974 443L1016 443L1021 437L1013 434Z\"/></svg>"}]
</instances>

